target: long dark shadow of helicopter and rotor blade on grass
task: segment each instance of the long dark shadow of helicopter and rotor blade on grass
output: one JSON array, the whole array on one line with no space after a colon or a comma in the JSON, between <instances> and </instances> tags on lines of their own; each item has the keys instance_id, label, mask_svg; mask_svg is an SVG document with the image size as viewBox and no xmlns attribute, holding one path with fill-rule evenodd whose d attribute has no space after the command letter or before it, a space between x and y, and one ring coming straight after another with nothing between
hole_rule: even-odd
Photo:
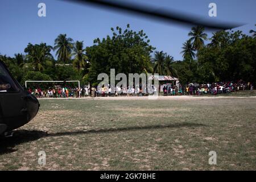
<instances>
[{"instance_id":1,"label":"long dark shadow of helicopter and rotor blade on grass","mask_svg":"<svg viewBox=\"0 0 256 182\"><path fill-rule=\"evenodd\" d=\"M98 129L98 130L79 130L79 131L65 131L58 133L47 133L44 131L36 130L16 130L13 137L0 139L0 155L17 151L14 147L18 144L31 142L44 137L61 137L67 135L80 135L80 134L93 134L93 133L114 133L120 131L139 131L139 130L155 130L155 129L167 129L175 127L200 127L206 126L200 123L173 123L169 125L147 125L147 126L130 126L130 127L118 127L110 129Z\"/></svg>"}]
</instances>

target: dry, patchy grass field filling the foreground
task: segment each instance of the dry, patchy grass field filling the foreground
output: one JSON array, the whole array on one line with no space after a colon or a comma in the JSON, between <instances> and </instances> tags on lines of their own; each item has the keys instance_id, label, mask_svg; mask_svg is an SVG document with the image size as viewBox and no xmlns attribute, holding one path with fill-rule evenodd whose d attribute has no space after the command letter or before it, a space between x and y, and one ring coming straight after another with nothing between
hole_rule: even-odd
<instances>
[{"instance_id":1,"label":"dry, patchy grass field filling the foreground","mask_svg":"<svg viewBox=\"0 0 256 182\"><path fill-rule=\"evenodd\" d=\"M0 140L0 169L256 169L256 98L40 104L33 121Z\"/></svg>"}]
</instances>

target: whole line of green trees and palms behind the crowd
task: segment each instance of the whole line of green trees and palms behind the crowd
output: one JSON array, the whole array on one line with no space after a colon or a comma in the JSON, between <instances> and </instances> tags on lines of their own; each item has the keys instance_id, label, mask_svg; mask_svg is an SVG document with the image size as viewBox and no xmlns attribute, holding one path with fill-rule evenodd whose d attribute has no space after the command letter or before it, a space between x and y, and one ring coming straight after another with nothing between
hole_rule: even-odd
<instances>
[{"instance_id":1,"label":"whole line of green trees and palms behind the crowd","mask_svg":"<svg viewBox=\"0 0 256 182\"><path fill-rule=\"evenodd\" d=\"M66 34L55 39L54 46L28 43L25 55L0 55L16 80L80 80L97 85L100 73L158 73L188 82L250 81L256 83L256 31L250 35L242 31L217 31L208 38L204 27L192 27L189 39L183 43L183 60L163 51L155 51L150 39L141 31L133 31L127 24L111 28L112 35L97 38L93 46L74 42ZM209 44L205 41L209 40ZM51 51L54 51L55 60Z\"/></svg>"}]
</instances>

